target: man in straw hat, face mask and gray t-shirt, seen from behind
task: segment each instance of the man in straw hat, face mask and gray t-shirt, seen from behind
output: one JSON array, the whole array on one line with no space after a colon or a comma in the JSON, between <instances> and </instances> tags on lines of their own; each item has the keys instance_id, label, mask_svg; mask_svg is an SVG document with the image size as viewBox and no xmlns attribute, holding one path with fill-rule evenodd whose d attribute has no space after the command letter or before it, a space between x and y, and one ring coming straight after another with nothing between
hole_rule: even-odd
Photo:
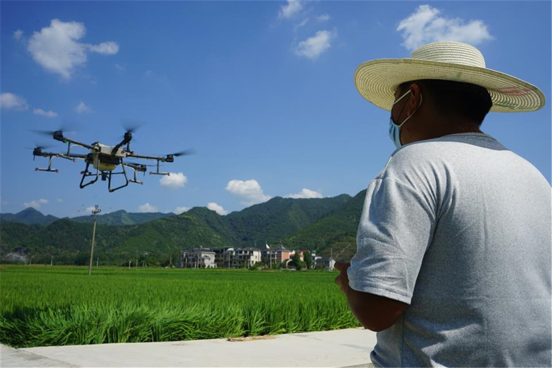
<instances>
[{"instance_id":1,"label":"man in straw hat, face mask and gray t-shirt, seen from behind","mask_svg":"<svg viewBox=\"0 0 552 368\"><path fill-rule=\"evenodd\" d=\"M391 111L397 150L370 183L357 254L336 283L376 366L551 366L550 185L481 132L489 111L543 93L438 42L360 65L357 90Z\"/></svg>"}]
</instances>

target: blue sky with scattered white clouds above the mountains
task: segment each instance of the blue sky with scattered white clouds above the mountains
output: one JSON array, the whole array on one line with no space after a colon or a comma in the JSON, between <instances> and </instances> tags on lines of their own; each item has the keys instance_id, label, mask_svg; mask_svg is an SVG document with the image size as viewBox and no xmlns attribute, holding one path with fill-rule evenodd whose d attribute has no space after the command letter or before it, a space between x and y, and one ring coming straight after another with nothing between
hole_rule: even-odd
<instances>
[{"instance_id":1,"label":"blue sky with scattered white clouds above the mountains","mask_svg":"<svg viewBox=\"0 0 552 368\"><path fill-rule=\"evenodd\" d=\"M353 74L370 59L408 57L435 40L475 45L490 69L550 99L550 2L1 2L1 212L225 214L274 196L354 195L394 145L389 112L365 101ZM399 27L408 24L407 27ZM482 130L551 180L550 103L490 113ZM114 145L141 122L132 149L163 170L109 193L79 189L83 161L35 172L30 130ZM74 152L85 153L84 149Z\"/></svg>"}]
</instances>

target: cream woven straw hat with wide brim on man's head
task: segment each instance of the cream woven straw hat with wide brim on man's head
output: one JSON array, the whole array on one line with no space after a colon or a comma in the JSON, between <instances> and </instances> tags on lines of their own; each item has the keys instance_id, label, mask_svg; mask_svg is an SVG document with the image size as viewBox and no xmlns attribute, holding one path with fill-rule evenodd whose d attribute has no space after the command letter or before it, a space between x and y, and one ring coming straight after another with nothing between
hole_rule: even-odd
<instances>
[{"instance_id":1,"label":"cream woven straw hat with wide brim on man's head","mask_svg":"<svg viewBox=\"0 0 552 368\"><path fill-rule=\"evenodd\" d=\"M395 101L401 83L440 79L473 83L487 88L496 112L536 111L544 106L539 88L516 77L487 69L485 59L474 46L458 42L423 45L405 59L370 60L357 68L354 85L362 96L385 110Z\"/></svg>"}]
</instances>

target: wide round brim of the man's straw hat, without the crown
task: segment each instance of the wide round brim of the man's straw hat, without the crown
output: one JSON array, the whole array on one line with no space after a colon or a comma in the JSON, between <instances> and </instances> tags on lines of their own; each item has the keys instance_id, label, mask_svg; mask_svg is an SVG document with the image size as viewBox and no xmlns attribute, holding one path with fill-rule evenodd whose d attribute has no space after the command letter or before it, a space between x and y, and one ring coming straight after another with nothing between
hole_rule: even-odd
<instances>
[{"instance_id":1,"label":"wide round brim of the man's straw hat, without the crown","mask_svg":"<svg viewBox=\"0 0 552 368\"><path fill-rule=\"evenodd\" d=\"M545 104L539 88L491 69L418 59L376 59L367 61L354 73L357 91L368 101L390 110L401 83L440 79L473 83L487 88L494 112L537 111Z\"/></svg>"}]
</instances>

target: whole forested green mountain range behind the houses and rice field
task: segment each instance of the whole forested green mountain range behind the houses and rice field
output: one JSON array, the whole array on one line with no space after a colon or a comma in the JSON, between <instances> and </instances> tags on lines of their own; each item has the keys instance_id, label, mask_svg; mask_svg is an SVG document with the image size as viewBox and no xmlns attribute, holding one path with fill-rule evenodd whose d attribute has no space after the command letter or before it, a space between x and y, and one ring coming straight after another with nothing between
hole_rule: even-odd
<instances>
[{"instance_id":1,"label":"whole forested green mountain range behind the houses and rice field","mask_svg":"<svg viewBox=\"0 0 552 368\"><path fill-rule=\"evenodd\" d=\"M163 265L168 263L169 257L176 259L181 249L255 245L260 248L265 240L274 244L285 239L290 239L290 244L294 245L286 245L288 248L311 249L312 237L302 230L312 228L311 232L327 233L321 228L326 217L331 215L343 221L343 213L353 211L347 205L355 198L347 194L313 199L276 197L226 216L204 207L194 207L180 215L137 225L105 225L98 220L94 257L99 257L103 265L123 265L129 260L135 262L136 257L151 265ZM118 220L113 220L113 224L119 223L125 214L118 212ZM0 238L0 256L4 260L13 253L32 257L33 263L49 263L54 257L56 264L84 265L89 261L92 224L67 218L45 227L3 223ZM334 244L335 236L332 238L328 233L326 238L327 244Z\"/></svg>"}]
</instances>

